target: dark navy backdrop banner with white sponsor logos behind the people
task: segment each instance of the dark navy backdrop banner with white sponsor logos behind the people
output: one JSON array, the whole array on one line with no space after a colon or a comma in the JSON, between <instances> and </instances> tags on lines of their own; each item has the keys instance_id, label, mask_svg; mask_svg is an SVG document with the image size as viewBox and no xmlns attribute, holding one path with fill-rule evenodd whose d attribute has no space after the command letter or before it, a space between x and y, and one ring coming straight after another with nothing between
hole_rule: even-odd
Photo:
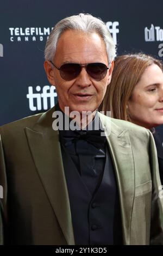
<instances>
[{"instance_id":1,"label":"dark navy backdrop banner with white sponsor logos behind the people","mask_svg":"<svg viewBox=\"0 0 163 256\"><path fill-rule=\"evenodd\" d=\"M43 51L59 20L78 13L101 17L117 54L141 51L162 59L162 10L162 0L1 0L0 125L47 111L57 102L43 69ZM163 138L162 126L158 130Z\"/></svg>"}]
</instances>

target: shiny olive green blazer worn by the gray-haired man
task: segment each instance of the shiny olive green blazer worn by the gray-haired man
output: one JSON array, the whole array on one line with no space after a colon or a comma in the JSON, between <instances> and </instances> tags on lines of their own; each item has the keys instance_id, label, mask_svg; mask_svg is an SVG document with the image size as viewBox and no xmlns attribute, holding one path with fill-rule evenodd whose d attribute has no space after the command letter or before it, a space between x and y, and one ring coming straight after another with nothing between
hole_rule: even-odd
<instances>
[{"instance_id":1,"label":"shiny olive green blazer worn by the gray-haired man","mask_svg":"<svg viewBox=\"0 0 163 256\"><path fill-rule=\"evenodd\" d=\"M1 244L74 245L59 132L52 129L54 110L0 127ZM163 203L151 132L99 117L105 129L111 124L106 138L120 196L124 245L163 244Z\"/></svg>"}]
</instances>

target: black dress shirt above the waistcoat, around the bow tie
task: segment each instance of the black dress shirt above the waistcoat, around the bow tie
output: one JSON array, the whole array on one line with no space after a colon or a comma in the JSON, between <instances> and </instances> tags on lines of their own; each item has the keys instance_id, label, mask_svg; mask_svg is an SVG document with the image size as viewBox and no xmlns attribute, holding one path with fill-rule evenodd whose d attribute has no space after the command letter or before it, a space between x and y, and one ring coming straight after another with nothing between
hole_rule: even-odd
<instances>
[{"instance_id":1,"label":"black dress shirt above the waistcoat, around the bow tie","mask_svg":"<svg viewBox=\"0 0 163 256\"><path fill-rule=\"evenodd\" d=\"M58 104L56 106L56 110L61 111ZM63 120L65 120L65 113L62 112L62 114L64 116ZM97 112L95 114L95 119L99 120ZM92 121L92 126L90 125L92 129L95 129L95 119ZM69 119L69 123L70 121L72 120ZM101 126L102 125L99 124L99 127ZM87 130L88 126L86 127L86 131ZM71 156L73 163L76 165L82 180L84 181L91 194L93 194L93 192L96 190L96 187L98 187L98 184L101 183L103 176L106 159L105 143L101 144L100 148L96 148L95 145L90 144L84 139L79 139L71 144L67 143L68 145L65 145L66 138L64 138L64 135L67 132L68 131L65 130L59 130L61 147L65 147L68 154ZM78 132L80 133L82 130L79 130ZM73 131L71 131L71 133L73 133Z\"/></svg>"}]
</instances>

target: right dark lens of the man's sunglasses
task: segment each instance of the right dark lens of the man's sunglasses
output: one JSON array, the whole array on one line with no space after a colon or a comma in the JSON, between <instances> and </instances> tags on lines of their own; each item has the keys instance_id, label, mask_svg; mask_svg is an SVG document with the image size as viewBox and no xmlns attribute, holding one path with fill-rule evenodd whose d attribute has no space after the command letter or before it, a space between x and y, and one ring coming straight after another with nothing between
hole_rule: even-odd
<instances>
[{"instance_id":1,"label":"right dark lens of the man's sunglasses","mask_svg":"<svg viewBox=\"0 0 163 256\"><path fill-rule=\"evenodd\" d=\"M93 79L100 81L106 76L108 68L103 63L90 63L87 65L86 71Z\"/></svg>"}]
</instances>

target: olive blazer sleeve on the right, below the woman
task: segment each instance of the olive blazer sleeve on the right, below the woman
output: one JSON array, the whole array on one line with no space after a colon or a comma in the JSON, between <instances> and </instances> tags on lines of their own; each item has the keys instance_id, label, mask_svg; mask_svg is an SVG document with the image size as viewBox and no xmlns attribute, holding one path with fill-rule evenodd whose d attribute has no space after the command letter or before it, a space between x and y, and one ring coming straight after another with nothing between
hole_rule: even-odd
<instances>
[{"instance_id":1,"label":"olive blazer sleeve on the right, below the woman","mask_svg":"<svg viewBox=\"0 0 163 256\"><path fill-rule=\"evenodd\" d=\"M151 245L163 245L163 192L159 175L158 157L154 138L150 132L150 154L152 175Z\"/></svg>"}]
</instances>

